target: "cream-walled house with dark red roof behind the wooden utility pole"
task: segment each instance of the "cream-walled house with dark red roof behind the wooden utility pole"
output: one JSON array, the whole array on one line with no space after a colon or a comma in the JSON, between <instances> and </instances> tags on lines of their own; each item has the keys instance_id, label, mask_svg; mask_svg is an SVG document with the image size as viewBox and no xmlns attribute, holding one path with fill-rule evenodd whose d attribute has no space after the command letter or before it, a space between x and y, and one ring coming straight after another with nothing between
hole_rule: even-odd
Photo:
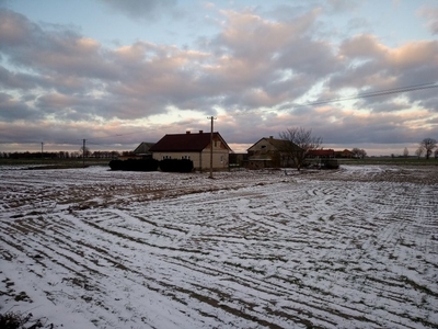
<instances>
[{"instance_id":1,"label":"cream-walled house with dark red roof behind the wooden utility pole","mask_svg":"<svg viewBox=\"0 0 438 329\"><path fill-rule=\"evenodd\" d=\"M161 138L149 151L155 160L189 159L195 170L210 169L211 134L199 131L198 134L170 134ZM212 169L228 169L231 148L219 133L212 134Z\"/></svg>"}]
</instances>

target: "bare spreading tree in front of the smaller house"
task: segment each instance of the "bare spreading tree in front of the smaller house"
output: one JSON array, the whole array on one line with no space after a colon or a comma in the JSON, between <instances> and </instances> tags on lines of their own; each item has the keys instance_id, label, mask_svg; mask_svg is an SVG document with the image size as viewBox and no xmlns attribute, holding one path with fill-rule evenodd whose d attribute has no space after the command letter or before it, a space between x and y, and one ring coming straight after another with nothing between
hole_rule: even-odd
<instances>
[{"instance_id":1,"label":"bare spreading tree in front of the smaller house","mask_svg":"<svg viewBox=\"0 0 438 329\"><path fill-rule=\"evenodd\" d=\"M322 137L313 136L312 129L303 127L288 128L279 133L280 139L285 141L284 151L288 154L298 171L304 163L309 150L318 149L322 146Z\"/></svg>"}]
</instances>

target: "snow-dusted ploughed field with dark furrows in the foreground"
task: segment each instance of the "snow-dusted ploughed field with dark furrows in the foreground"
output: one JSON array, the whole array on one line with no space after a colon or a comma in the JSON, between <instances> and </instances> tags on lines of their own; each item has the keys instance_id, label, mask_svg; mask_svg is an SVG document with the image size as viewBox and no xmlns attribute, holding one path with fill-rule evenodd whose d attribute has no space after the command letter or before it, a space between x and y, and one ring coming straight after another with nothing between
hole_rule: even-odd
<instances>
[{"instance_id":1,"label":"snow-dusted ploughed field with dark furrows in the foreground","mask_svg":"<svg viewBox=\"0 0 438 329\"><path fill-rule=\"evenodd\" d=\"M0 313L46 328L437 328L438 166L0 169Z\"/></svg>"}]
</instances>

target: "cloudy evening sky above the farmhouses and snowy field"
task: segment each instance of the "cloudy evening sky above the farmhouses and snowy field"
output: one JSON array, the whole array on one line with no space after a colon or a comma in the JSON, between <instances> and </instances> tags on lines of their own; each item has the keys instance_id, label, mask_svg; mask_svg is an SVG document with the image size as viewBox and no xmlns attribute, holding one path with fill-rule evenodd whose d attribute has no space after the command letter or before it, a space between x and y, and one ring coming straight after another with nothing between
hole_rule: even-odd
<instances>
[{"instance_id":1,"label":"cloudy evening sky above the farmhouses and snowy field","mask_svg":"<svg viewBox=\"0 0 438 329\"><path fill-rule=\"evenodd\" d=\"M436 0L0 0L0 151L131 150L215 116L234 151L306 127L414 155L437 81Z\"/></svg>"}]
</instances>

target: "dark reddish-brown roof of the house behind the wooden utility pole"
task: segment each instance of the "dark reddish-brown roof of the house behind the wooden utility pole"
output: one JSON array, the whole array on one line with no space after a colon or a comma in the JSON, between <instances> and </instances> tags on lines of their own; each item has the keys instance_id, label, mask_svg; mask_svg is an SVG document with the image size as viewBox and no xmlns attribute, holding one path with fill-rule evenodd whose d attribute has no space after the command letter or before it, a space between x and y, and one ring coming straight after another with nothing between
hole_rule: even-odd
<instances>
[{"instance_id":1,"label":"dark reddish-brown roof of the house behind the wooden utility pole","mask_svg":"<svg viewBox=\"0 0 438 329\"><path fill-rule=\"evenodd\" d=\"M195 151L200 152L207 146L210 145L210 133L192 134L189 132L185 134L170 134L161 138L155 145L149 150L152 152L166 151L166 152L183 152L183 151ZM220 139L229 151L231 148L223 140L219 133L214 133L214 139Z\"/></svg>"}]
</instances>

